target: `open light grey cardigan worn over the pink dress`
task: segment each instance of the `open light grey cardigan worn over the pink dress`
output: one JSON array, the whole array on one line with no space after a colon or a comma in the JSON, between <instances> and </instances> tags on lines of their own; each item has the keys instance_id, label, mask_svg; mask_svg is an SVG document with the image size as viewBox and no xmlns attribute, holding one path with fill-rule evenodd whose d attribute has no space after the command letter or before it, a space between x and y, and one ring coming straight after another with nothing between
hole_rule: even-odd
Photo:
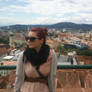
<instances>
[{"instance_id":1,"label":"open light grey cardigan worn over the pink dress","mask_svg":"<svg viewBox=\"0 0 92 92\"><path fill-rule=\"evenodd\" d=\"M55 78L56 78L56 69L57 69L57 57L52 50L52 61L51 61L51 71L48 77L48 84L50 88L50 92L56 92L56 85L55 85ZM14 84L14 92L20 92L20 87L24 82L24 64L23 64L23 52L19 55L17 61L17 68L16 68L16 79Z\"/></svg>"}]
</instances>

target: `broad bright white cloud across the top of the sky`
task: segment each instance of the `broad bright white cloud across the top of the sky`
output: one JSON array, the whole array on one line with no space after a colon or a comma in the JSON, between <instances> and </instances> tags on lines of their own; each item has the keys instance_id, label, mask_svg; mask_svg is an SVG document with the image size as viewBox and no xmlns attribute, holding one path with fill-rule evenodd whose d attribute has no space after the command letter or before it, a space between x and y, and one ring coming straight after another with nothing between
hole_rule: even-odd
<instances>
[{"instance_id":1,"label":"broad bright white cloud across the top of the sky","mask_svg":"<svg viewBox=\"0 0 92 92\"><path fill-rule=\"evenodd\" d=\"M89 6L92 3L91 0L19 0L22 2L28 2L25 6L11 5L8 8L16 10L16 12L36 13L40 15L52 15L62 13L77 13L82 10L90 11L92 9ZM71 3L72 2L72 3ZM85 7L85 6L86 7Z\"/></svg>"}]
</instances>

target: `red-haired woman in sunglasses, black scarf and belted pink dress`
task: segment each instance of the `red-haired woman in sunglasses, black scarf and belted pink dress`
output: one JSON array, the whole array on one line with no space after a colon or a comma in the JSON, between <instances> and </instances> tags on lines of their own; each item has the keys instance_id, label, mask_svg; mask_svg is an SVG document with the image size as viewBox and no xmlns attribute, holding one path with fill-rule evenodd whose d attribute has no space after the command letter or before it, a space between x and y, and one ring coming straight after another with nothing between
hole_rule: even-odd
<instances>
[{"instance_id":1,"label":"red-haired woman in sunglasses, black scarf and belted pink dress","mask_svg":"<svg viewBox=\"0 0 92 92\"><path fill-rule=\"evenodd\" d=\"M14 92L56 92L56 54L46 45L48 30L32 28L18 59Z\"/></svg>"}]
</instances>

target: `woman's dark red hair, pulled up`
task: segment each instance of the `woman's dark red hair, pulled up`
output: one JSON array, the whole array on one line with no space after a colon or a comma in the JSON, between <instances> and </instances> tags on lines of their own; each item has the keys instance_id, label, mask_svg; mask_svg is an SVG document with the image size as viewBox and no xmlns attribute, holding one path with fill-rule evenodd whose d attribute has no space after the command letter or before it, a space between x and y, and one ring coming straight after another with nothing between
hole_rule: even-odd
<instances>
[{"instance_id":1,"label":"woman's dark red hair, pulled up","mask_svg":"<svg viewBox=\"0 0 92 92\"><path fill-rule=\"evenodd\" d=\"M46 37L48 35L48 29L47 28L43 28L43 27L32 28L30 31L31 32L37 32L38 38L43 39L43 44L46 43Z\"/></svg>"}]
</instances>

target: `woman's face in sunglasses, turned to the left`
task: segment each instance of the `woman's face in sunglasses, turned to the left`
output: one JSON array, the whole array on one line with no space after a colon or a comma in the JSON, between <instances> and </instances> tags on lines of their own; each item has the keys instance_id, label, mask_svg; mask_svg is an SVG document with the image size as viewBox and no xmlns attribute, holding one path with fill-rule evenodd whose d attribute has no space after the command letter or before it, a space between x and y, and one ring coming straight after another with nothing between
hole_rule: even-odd
<instances>
[{"instance_id":1,"label":"woman's face in sunglasses, turned to the left","mask_svg":"<svg viewBox=\"0 0 92 92\"><path fill-rule=\"evenodd\" d=\"M43 43L43 39L39 39L37 33L31 31L28 33L28 37L29 38L27 40L27 43L29 48L34 48L36 50L39 50Z\"/></svg>"}]
</instances>

